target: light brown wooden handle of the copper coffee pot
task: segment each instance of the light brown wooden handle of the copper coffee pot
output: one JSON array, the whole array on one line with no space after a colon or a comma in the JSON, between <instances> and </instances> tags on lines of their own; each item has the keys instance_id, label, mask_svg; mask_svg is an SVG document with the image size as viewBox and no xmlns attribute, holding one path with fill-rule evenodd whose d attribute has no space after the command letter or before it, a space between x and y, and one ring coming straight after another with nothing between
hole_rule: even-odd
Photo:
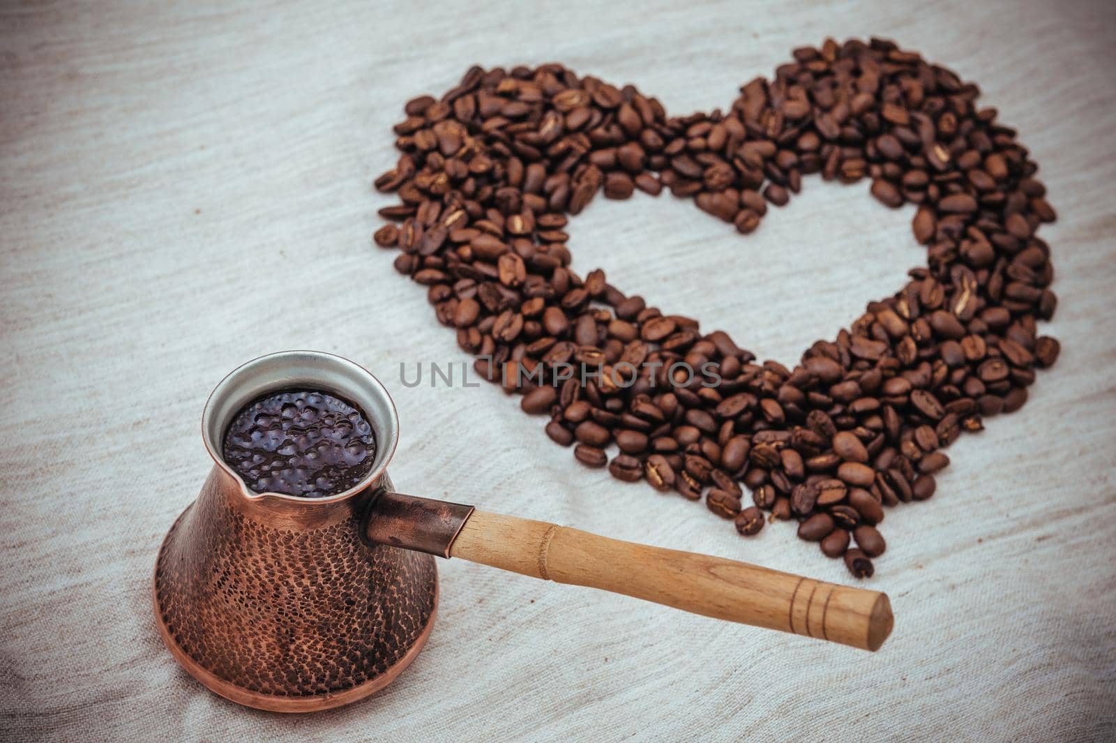
<instances>
[{"instance_id":1,"label":"light brown wooden handle of the copper coffee pot","mask_svg":"<svg viewBox=\"0 0 1116 743\"><path fill-rule=\"evenodd\" d=\"M499 513L474 511L450 557L868 650L892 631L886 594Z\"/></svg>"}]
</instances>

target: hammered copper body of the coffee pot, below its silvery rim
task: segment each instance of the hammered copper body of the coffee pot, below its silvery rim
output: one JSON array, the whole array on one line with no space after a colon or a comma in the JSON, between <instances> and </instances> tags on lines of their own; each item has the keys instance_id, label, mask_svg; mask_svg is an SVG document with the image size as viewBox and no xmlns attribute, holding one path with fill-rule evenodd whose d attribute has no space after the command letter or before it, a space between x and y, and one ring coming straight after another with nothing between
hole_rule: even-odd
<instances>
[{"instance_id":1,"label":"hammered copper body of the coffee pot, below its silvery rim","mask_svg":"<svg viewBox=\"0 0 1116 743\"><path fill-rule=\"evenodd\" d=\"M391 488L386 475L379 484ZM378 688L372 682L398 673L393 666L425 639L437 572L429 554L362 542L373 491L321 508L270 504L247 500L214 467L160 551L155 601L166 638L254 695Z\"/></svg>"}]
</instances>

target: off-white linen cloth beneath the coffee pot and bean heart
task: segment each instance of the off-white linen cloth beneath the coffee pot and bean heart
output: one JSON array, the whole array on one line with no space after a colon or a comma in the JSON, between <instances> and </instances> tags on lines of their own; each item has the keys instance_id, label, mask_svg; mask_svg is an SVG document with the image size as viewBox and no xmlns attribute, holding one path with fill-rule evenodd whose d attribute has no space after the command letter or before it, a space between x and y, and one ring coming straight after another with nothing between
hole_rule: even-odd
<instances>
[{"instance_id":1,"label":"off-white linen cloth beneath the coffee pot and bean heart","mask_svg":"<svg viewBox=\"0 0 1116 743\"><path fill-rule=\"evenodd\" d=\"M0 737L1112 740L1116 735L1114 6L7 3L0 9ZM575 463L372 247L392 125L465 69L562 61L667 110L728 107L793 47L881 35L977 80L1041 165L1059 221L1064 350L1019 413L949 450L887 513L864 585L877 654L442 562L426 649L387 689L282 716L227 702L163 648L160 541L210 467L209 390L317 348L392 389L405 492L852 581L787 524L741 539L704 506ZM923 261L913 209L806 181L748 238L691 201L598 199L574 268L795 363ZM429 365L454 364L431 386ZM408 379L414 365L427 373ZM475 379L475 377L472 377Z\"/></svg>"}]
</instances>

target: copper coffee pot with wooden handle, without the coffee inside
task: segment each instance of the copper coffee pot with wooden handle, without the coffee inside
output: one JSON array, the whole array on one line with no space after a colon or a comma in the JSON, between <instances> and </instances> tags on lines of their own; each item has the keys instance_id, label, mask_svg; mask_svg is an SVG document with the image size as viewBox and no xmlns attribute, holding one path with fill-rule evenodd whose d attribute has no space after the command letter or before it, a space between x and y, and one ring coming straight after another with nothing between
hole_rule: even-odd
<instances>
[{"instance_id":1,"label":"copper coffee pot with wooden handle, without the coffee inside","mask_svg":"<svg viewBox=\"0 0 1116 743\"><path fill-rule=\"evenodd\" d=\"M338 395L368 417L377 451L356 486L312 500L254 493L221 459L237 412L292 387ZM160 633L191 675L233 702L276 712L367 696L430 635L433 556L869 650L891 633L891 605L877 591L393 492L387 463L398 437L387 390L339 356L272 354L221 380L202 414L214 466L155 565Z\"/></svg>"}]
</instances>

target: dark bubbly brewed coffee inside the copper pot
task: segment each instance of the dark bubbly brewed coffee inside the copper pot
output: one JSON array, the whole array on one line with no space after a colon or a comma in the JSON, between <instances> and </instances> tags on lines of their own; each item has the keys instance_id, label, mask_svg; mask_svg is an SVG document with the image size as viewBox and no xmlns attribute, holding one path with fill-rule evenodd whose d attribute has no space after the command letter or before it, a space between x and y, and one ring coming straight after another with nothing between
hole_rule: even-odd
<instances>
[{"instance_id":1,"label":"dark bubbly brewed coffee inside the copper pot","mask_svg":"<svg viewBox=\"0 0 1116 743\"><path fill-rule=\"evenodd\" d=\"M376 437L354 405L316 389L289 389L241 408L221 453L257 493L327 498L368 474Z\"/></svg>"}]
</instances>

